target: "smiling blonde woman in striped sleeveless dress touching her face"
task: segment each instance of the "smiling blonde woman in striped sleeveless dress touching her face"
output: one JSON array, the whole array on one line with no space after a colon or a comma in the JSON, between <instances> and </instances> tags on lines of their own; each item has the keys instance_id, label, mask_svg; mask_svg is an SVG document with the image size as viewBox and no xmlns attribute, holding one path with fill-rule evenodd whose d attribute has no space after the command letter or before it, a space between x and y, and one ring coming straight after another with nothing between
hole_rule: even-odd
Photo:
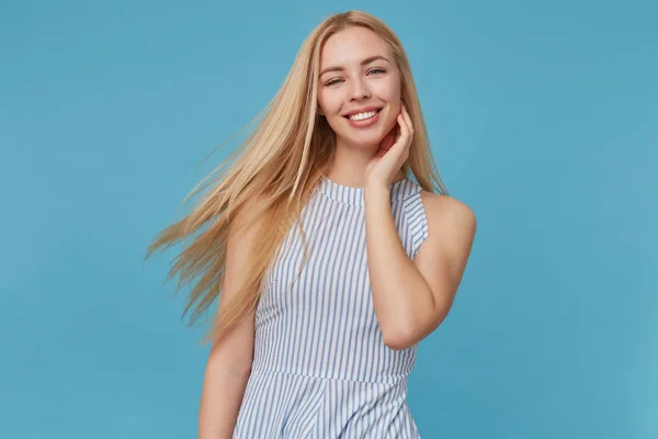
<instances>
[{"instance_id":1,"label":"smiling blonde woman in striped sleeveless dress touching her face","mask_svg":"<svg viewBox=\"0 0 658 439\"><path fill-rule=\"evenodd\" d=\"M192 320L219 297L198 437L419 437L407 376L476 222L435 170L399 40L328 18L239 153L148 252L184 240L170 277L198 278Z\"/></svg>"}]
</instances>

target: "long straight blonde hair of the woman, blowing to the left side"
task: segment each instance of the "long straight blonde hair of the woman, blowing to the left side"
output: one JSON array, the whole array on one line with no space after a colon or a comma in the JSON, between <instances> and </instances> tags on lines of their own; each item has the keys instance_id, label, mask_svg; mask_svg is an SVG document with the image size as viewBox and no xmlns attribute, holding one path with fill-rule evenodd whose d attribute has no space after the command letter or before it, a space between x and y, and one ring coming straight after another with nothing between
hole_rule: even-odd
<instances>
[{"instance_id":1,"label":"long straight blonde hair of the woman, blowing to the left side","mask_svg":"<svg viewBox=\"0 0 658 439\"><path fill-rule=\"evenodd\" d=\"M379 35L390 47L401 80L404 100L415 135L402 171L416 178L426 191L447 194L436 170L422 117L416 85L402 44L375 16L349 11L327 18L304 41L285 82L265 106L264 116L241 147L206 177L188 198L202 193L192 211L161 230L148 247L147 259L157 249L181 240L183 250L172 260L167 281L179 273L177 292L198 278L183 311L196 322L218 297L226 264L226 246L231 218L249 200L259 200L249 227L260 217L252 249L248 281L223 304L203 341L217 340L258 304L261 282L286 233L333 161L336 135L317 113L317 81L320 50L327 38L350 26L363 26ZM236 158L237 157L237 158ZM236 158L227 170L222 170ZM214 178L212 178L215 175Z\"/></svg>"}]
</instances>

